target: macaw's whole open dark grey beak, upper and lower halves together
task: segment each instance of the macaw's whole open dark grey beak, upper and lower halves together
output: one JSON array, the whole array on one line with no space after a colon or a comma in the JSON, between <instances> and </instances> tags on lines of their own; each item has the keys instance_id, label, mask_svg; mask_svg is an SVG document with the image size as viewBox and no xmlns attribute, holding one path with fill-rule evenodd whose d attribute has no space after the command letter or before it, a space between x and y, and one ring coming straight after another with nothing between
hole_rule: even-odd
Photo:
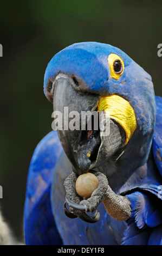
<instances>
[{"instance_id":1,"label":"macaw's whole open dark grey beak, upper and lower halves together","mask_svg":"<svg viewBox=\"0 0 162 256\"><path fill-rule=\"evenodd\" d=\"M125 132L115 120L109 119L108 135L101 135L99 100L99 95L76 88L68 76L54 83L57 132L77 175L100 166L125 143Z\"/></svg>"}]
</instances>

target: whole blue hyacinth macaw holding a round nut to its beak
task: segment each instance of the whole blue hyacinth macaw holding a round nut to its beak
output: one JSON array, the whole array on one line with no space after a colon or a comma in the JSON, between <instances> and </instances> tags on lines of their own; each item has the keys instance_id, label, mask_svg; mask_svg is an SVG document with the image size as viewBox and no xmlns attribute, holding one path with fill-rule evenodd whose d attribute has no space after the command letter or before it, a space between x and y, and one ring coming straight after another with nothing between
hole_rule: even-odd
<instances>
[{"instance_id":1,"label":"whole blue hyacinth macaw holding a round nut to its beak","mask_svg":"<svg viewBox=\"0 0 162 256\"><path fill-rule=\"evenodd\" d=\"M93 127L60 129L37 145L27 180L26 244L161 245L162 99L151 76L119 48L81 42L50 60L44 93L63 118L64 107L108 111L110 130L101 136ZM75 181L87 172L99 186L82 198Z\"/></svg>"}]
</instances>

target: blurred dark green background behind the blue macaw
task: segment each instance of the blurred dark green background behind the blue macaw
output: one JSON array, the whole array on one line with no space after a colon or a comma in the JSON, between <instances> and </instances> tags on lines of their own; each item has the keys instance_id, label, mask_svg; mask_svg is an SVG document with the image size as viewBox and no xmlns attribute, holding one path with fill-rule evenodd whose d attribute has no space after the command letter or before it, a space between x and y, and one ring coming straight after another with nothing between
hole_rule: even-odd
<instances>
[{"instance_id":1,"label":"blurred dark green background behind the blue macaw","mask_svg":"<svg viewBox=\"0 0 162 256\"><path fill-rule=\"evenodd\" d=\"M49 60L81 41L104 42L126 52L151 76L162 96L161 1L1 1L1 208L23 240L25 186L31 156L51 131L53 106L43 94Z\"/></svg>"}]
</instances>

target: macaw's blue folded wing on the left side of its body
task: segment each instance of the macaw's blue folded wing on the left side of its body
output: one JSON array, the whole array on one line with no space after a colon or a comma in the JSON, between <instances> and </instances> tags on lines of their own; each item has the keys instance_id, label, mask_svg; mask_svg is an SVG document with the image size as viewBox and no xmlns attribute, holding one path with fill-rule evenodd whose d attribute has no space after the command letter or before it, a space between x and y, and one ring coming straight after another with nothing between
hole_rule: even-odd
<instances>
[{"instance_id":1,"label":"macaw's blue folded wing on the left side of its body","mask_svg":"<svg viewBox=\"0 0 162 256\"><path fill-rule=\"evenodd\" d=\"M62 244L50 203L51 180L61 151L57 132L52 131L37 145L31 159L24 207L27 245Z\"/></svg>"}]
</instances>

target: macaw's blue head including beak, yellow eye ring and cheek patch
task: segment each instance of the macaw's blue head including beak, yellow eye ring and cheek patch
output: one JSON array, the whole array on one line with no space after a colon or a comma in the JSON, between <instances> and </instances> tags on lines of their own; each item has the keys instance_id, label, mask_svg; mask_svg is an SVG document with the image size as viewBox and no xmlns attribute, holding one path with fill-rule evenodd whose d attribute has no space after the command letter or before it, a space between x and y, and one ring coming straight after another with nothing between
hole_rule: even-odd
<instances>
[{"instance_id":1,"label":"macaw's blue head including beak, yellow eye ring and cheek patch","mask_svg":"<svg viewBox=\"0 0 162 256\"><path fill-rule=\"evenodd\" d=\"M47 66L44 93L57 118L62 114L59 138L76 174L109 160L122 160L127 169L147 160L155 124L152 79L119 48L98 42L64 48ZM105 119L106 136L100 126Z\"/></svg>"}]
</instances>

